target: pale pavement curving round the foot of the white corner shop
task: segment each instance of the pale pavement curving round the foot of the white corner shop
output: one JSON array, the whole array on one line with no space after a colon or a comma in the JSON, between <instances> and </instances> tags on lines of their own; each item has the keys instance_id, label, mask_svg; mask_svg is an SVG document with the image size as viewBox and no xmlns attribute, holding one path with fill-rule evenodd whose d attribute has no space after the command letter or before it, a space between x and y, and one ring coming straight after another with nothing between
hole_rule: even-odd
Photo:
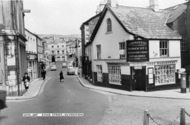
<instances>
[{"instance_id":1,"label":"pale pavement curving round the foot of the white corner shop","mask_svg":"<svg viewBox=\"0 0 190 125\"><path fill-rule=\"evenodd\" d=\"M172 90L159 90L159 91L127 91L127 90L119 90L114 88L106 88L100 87L91 84L89 81L84 79L83 77L77 77L84 87L89 89L96 89L105 92L126 95L126 96L136 96L136 97L149 97L149 98L166 98L166 99L183 99L183 100L190 100L190 90L187 89L187 93L181 93L179 89L172 89Z\"/></svg>"}]
</instances>

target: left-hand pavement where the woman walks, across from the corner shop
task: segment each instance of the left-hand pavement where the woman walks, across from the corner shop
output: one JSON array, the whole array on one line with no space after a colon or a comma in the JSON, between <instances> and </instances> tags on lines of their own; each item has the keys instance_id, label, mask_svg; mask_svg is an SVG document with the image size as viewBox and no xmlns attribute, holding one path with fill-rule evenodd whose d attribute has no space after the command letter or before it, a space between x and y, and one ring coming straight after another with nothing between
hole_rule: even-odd
<instances>
[{"instance_id":1,"label":"left-hand pavement where the woman walks, across from the corner shop","mask_svg":"<svg viewBox=\"0 0 190 125\"><path fill-rule=\"evenodd\" d=\"M6 100L26 100L26 99L32 99L39 95L41 91L43 91L43 87L45 86L45 83L49 80L49 77L46 77L45 80L42 80L42 78L34 79L30 85L29 89L22 95L22 96L7 96Z\"/></svg>"}]
</instances>

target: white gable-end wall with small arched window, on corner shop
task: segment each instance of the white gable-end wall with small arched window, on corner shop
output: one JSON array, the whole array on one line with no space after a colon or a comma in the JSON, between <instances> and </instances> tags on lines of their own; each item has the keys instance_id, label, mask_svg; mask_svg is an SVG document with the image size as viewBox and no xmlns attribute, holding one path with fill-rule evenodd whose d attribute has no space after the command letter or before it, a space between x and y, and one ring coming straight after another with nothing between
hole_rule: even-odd
<instances>
[{"instance_id":1,"label":"white gable-end wall with small arched window, on corner shop","mask_svg":"<svg viewBox=\"0 0 190 125\"><path fill-rule=\"evenodd\" d=\"M112 32L109 33L107 33L107 18L110 18L112 20ZM97 59L96 45L101 44L101 59L119 59L119 42L125 42L129 39L129 37L131 37L131 35L126 33L126 31L121 27L121 25L117 22L113 15L109 11L107 11L92 43L92 58ZM107 69L107 65L104 64L105 62L97 60L94 61L92 64L93 71L95 71L96 65L99 63L103 63L103 70ZM108 71L105 70L105 72Z\"/></svg>"}]
</instances>

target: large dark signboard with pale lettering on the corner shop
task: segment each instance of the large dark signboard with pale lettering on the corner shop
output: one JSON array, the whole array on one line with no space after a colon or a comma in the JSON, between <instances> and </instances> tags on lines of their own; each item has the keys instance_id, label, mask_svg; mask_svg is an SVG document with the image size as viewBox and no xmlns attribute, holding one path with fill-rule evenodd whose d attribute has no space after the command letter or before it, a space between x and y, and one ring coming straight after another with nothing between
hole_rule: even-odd
<instances>
[{"instance_id":1,"label":"large dark signboard with pale lettering on the corner shop","mask_svg":"<svg viewBox=\"0 0 190 125\"><path fill-rule=\"evenodd\" d=\"M148 41L133 40L127 41L127 61L144 62L148 61Z\"/></svg>"}]
</instances>

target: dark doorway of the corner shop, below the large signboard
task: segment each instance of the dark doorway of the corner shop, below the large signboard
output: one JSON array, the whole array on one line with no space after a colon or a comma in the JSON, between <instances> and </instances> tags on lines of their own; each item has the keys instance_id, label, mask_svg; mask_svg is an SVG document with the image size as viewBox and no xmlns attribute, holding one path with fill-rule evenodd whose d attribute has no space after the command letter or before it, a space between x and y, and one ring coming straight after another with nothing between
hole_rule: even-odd
<instances>
[{"instance_id":1,"label":"dark doorway of the corner shop, below the large signboard","mask_svg":"<svg viewBox=\"0 0 190 125\"><path fill-rule=\"evenodd\" d=\"M134 69L135 90L145 90L146 70L145 67Z\"/></svg>"}]
</instances>

